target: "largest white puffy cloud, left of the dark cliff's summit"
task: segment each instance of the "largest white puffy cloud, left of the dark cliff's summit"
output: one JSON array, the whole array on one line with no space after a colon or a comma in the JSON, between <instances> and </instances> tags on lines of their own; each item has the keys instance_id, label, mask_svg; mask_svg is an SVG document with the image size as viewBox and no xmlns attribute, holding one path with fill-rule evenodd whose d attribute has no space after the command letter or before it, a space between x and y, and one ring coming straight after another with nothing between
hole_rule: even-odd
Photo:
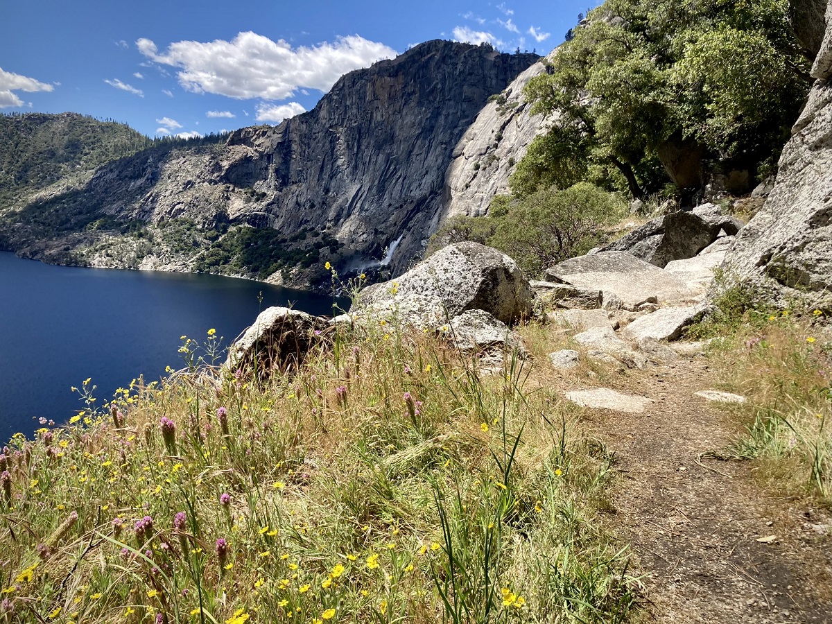
<instances>
[{"instance_id":1,"label":"largest white puffy cloud, left of the dark cliff's summit","mask_svg":"<svg viewBox=\"0 0 832 624\"><path fill-rule=\"evenodd\" d=\"M255 32L240 32L230 42L174 42L165 52L145 38L136 47L154 62L180 67L179 82L188 91L265 100L292 97L301 87L326 92L346 72L396 56L393 48L358 35L314 47L293 48Z\"/></svg>"}]
</instances>

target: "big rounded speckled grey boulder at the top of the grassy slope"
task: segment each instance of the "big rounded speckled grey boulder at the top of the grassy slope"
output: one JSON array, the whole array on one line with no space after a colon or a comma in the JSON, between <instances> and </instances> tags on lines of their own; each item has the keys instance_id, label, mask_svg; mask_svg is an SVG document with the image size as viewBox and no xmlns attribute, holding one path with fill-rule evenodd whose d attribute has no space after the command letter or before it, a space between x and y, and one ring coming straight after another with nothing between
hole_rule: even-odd
<instances>
[{"instance_id":1,"label":"big rounded speckled grey boulder at the top of the grassy slope","mask_svg":"<svg viewBox=\"0 0 832 624\"><path fill-rule=\"evenodd\" d=\"M532 314L532 296L508 255L463 242L444 247L395 280L368 286L351 312L433 329L466 310L485 310L510 324Z\"/></svg>"}]
</instances>

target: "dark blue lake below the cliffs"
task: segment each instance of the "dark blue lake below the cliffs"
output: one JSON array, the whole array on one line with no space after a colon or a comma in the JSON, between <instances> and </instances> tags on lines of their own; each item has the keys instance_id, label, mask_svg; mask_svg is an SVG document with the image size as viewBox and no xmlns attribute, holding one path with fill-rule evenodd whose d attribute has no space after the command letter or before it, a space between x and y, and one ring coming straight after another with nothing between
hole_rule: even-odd
<instances>
[{"instance_id":1,"label":"dark blue lake below the cliffs","mask_svg":"<svg viewBox=\"0 0 832 624\"><path fill-rule=\"evenodd\" d=\"M262 303L258 296L262 293ZM216 275L79 269L0 252L0 445L37 418L65 422L82 409L72 386L92 377L99 403L144 375L184 366L180 336L227 346L259 312L290 305L331 314L332 300Z\"/></svg>"}]
</instances>

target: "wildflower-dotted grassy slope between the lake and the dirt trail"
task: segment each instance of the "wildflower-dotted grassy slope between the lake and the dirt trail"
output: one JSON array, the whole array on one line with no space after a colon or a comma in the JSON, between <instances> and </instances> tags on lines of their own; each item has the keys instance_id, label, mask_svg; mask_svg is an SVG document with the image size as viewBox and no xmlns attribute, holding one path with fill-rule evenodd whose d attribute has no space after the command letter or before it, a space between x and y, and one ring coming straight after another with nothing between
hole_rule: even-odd
<instances>
[{"instance_id":1,"label":"wildflower-dotted grassy slope between the lake and the dirt trail","mask_svg":"<svg viewBox=\"0 0 832 624\"><path fill-rule=\"evenodd\" d=\"M0 617L626 620L638 582L596 522L612 455L529 364L482 377L426 334L330 338L262 384L191 342L191 370L101 408L87 380L75 422L12 438Z\"/></svg>"}]
</instances>

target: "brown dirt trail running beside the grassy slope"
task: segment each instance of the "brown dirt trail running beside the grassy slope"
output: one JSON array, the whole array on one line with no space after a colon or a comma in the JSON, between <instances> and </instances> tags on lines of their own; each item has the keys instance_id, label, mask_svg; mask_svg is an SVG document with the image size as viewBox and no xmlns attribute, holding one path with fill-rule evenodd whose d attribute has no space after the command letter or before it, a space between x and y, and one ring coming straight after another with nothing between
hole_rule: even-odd
<instances>
[{"instance_id":1,"label":"brown dirt trail running beside the grassy slope","mask_svg":"<svg viewBox=\"0 0 832 624\"><path fill-rule=\"evenodd\" d=\"M736 437L694 394L714 384L701 358L631 371L607 387L655 403L591 413L617 454L610 522L647 573L647 621L832 622L832 539L805 526L813 510L765 493L753 463L702 455Z\"/></svg>"}]
</instances>

